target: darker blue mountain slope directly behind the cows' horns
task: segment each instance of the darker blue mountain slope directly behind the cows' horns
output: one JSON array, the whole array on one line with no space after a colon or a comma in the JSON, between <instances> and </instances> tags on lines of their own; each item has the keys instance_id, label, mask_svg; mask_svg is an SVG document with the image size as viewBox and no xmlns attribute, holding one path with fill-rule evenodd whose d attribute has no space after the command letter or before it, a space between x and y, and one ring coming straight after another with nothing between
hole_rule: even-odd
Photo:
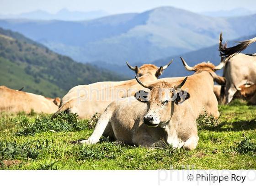
<instances>
[{"instance_id":1,"label":"darker blue mountain slope directly behind the cows' horns","mask_svg":"<svg viewBox=\"0 0 256 187\"><path fill-rule=\"evenodd\" d=\"M224 41L226 41L226 36L227 33L224 33ZM244 41L247 39L251 39L253 37L256 37L256 34L251 35L251 36L244 36L237 38L233 41L228 41L228 47L232 47L237 45L237 41ZM251 46L247 47L243 53L246 54L253 54L256 53L256 43L251 44ZM199 49L196 51L192 52L187 52L181 55L176 55L176 56L170 56L166 58L162 58L159 60L156 60L154 62L150 62L152 64L157 65L158 67L164 66L168 62L170 62L172 59L174 60L173 63L165 70L165 72L162 74L161 78L164 77L180 77L180 76L187 76L193 74L193 72L188 72L182 65L180 56L183 57L188 65L194 66L200 62L207 62L210 61L213 64L217 65L220 62L220 57L219 57L219 44L215 44L211 47L206 47L203 49ZM126 76L129 76L130 78L134 77L134 73L132 71L127 71L128 67L125 63L120 64L120 65L111 65L111 64L106 64L106 62L101 62L101 61L96 61L93 62L96 66L100 68L106 68L115 72L123 72ZM140 66L142 63L135 63L133 64L134 66ZM217 72L219 75L222 75L222 70L219 70Z\"/></svg>"}]
</instances>

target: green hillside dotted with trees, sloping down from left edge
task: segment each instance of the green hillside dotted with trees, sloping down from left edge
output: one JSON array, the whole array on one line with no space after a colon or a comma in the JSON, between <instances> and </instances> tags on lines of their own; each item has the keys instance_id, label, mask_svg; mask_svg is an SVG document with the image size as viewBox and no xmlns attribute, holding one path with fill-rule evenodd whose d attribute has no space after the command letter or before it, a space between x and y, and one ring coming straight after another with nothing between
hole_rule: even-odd
<instances>
[{"instance_id":1,"label":"green hillside dotted with trees, sloping down from left edge","mask_svg":"<svg viewBox=\"0 0 256 187\"><path fill-rule=\"evenodd\" d=\"M25 91L55 97L79 84L123 79L52 52L19 33L0 29L0 85L24 86Z\"/></svg>"}]
</instances>

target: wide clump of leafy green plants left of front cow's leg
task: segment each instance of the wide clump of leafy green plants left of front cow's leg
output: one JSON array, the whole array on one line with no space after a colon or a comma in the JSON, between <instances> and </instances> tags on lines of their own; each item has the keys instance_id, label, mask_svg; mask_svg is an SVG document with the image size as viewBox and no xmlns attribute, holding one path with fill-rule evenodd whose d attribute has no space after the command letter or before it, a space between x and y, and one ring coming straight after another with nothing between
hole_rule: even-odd
<instances>
[{"instance_id":1,"label":"wide clump of leafy green plants left of front cow's leg","mask_svg":"<svg viewBox=\"0 0 256 187\"><path fill-rule=\"evenodd\" d=\"M19 122L21 130L16 132L16 135L35 135L49 130L53 132L84 130L88 125L88 120L79 121L77 117L77 114L57 115L54 119L50 116L39 116L31 123L24 117Z\"/></svg>"}]
</instances>

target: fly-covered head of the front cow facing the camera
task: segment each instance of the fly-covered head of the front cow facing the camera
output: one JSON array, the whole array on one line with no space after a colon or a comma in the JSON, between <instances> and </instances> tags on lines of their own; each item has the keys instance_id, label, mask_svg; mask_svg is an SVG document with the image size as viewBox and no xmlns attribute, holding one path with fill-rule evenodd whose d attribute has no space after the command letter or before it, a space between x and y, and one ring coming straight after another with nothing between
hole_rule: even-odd
<instances>
[{"instance_id":1,"label":"fly-covered head of the front cow facing the camera","mask_svg":"<svg viewBox=\"0 0 256 187\"><path fill-rule=\"evenodd\" d=\"M181 90L186 82L185 78L179 85L171 85L170 83L158 82L151 85L142 83L135 76L139 84L145 88L149 88L150 92L136 93L135 97L141 102L147 102L147 114L144 116L144 123L150 127L165 127L170 121L174 104L185 101L190 95ZM142 96L143 95L143 96Z\"/></svg>"}]
</instances>

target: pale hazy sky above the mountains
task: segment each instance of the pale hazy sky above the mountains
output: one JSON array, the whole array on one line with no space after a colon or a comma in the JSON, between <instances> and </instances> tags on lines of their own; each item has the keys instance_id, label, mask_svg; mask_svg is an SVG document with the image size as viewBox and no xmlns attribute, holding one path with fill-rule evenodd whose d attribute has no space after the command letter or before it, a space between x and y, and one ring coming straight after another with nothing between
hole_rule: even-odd
<instances>
[{"instance_id":1,"label":"pale hazy sky above the mountains","mask_svg":"<svg viewBox=\"0 0 256 187\"><path fill-rule=\"evenodd\" d=\"M174 6L193 12L246 8L256 10L255 0L0 0L0 14L34 10L50 13L66 8L77 11L104 10L110 14L143 12L160 6Z\"/></svg>"}]
</instances>

